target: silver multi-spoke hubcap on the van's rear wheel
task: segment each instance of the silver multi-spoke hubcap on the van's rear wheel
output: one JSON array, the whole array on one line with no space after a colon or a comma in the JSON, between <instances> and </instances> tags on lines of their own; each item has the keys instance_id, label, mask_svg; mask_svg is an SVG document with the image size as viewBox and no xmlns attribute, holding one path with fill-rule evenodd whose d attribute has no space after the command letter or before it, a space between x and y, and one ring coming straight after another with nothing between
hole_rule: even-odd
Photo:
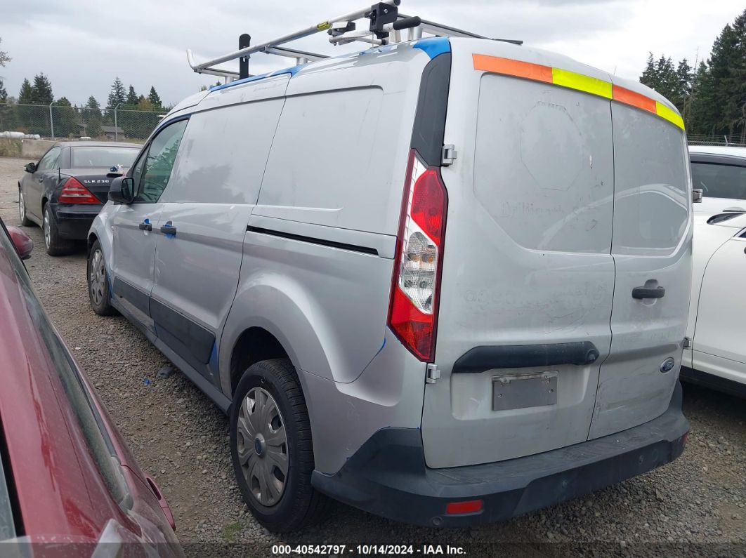
<instances>
[{"instance_id":1,"label":"silver multi-spoke hubcap on the van's rear wheel","mask_svg":"<svg viewBox=\"0 0 746 558\"><path fill-rule=\"evenodd\" d=\"M251 494L263 506L274 506L287 481L287 435L275 399L261 387L250 390L241 403L236 443Z\"/></svg>"}]
</instances>

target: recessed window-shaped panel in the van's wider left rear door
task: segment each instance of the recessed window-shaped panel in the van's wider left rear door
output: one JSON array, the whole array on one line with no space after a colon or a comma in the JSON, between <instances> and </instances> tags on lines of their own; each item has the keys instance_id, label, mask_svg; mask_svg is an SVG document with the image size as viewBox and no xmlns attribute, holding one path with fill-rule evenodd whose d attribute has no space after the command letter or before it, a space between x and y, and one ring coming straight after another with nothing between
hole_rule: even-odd
<instances>
[{"instance_id":1,"label":"recessed window-shaped panel in the van's wider left rear door","mask_svg":"<svg viewBox=\"0 0 746 558\"><path fill-rule=\"evenodd\" d=\"M515 77L480 82L474 194L521 247L609 253L609 101Z\"/></svg>"}]
</instances>

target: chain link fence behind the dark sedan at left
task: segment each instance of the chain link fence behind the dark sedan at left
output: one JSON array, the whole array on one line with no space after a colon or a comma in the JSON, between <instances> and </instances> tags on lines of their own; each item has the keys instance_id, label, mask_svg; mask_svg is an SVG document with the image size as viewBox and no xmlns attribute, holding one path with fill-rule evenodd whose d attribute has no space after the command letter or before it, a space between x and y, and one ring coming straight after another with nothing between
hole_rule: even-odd
<instances>
[{"instance_id":1,"label":"chain link fence behind the dark sedan at left","mask_svg":"<svg viewBox=\"0 0 746 558\"><path fill-rule=\"evenodd\" d=\"M142 143L164 115L144 110L0 104L0 137L22 133L40 139Z\"/></svg>"}]
</instances>

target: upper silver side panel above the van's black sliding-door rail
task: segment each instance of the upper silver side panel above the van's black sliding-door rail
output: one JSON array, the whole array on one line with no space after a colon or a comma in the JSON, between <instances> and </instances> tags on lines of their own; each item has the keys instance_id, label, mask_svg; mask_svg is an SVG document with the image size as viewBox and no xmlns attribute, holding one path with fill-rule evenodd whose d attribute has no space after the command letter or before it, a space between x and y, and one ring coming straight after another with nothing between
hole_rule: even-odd
<instances>
[{"instance_id":1,"label":"upper silver side panel above the van's black sliding-door rail","mask_svg":"<svg viewBox=\"0 0 746 558\"><path fill-rule=\"evenodd\" d=\"M290 80L257 215L396 235L421 70L410 45Z\"/></svg>"}]
</instances>

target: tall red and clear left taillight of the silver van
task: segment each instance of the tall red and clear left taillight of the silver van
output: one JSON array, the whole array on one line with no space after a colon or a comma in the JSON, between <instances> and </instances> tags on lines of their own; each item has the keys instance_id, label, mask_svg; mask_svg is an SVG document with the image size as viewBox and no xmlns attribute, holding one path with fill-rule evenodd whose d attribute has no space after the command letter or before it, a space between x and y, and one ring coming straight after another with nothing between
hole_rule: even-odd
<instances>
[{"instance_id":1,"label":"tall red and clear left taillight of the silver van","mask_svg":"<svg viewBox=\"0 0 746 558\"><path fill-rule=\"evenodd\" d=\"M410 152L394 261L389 328L421 361L432 361L448 195L440 168Z\"/></svg>"}]
</instances>

